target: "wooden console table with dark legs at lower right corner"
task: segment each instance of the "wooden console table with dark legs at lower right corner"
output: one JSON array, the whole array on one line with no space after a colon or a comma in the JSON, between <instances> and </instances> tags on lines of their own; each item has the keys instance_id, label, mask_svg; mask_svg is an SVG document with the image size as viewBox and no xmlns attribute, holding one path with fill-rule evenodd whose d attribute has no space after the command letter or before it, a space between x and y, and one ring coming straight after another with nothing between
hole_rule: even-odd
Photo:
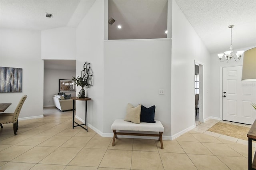
<instances>
[{"instance_id":1,"label":"wooden console table with dark legs at lower right corner","mask_svg":"<svg viewBox=\"0 0 256 170\"><path fill-rule=\"evenodd\" d=\"M252 162L252 140L256 141L256 120L252 124L249 132L247 133L248 137L248 170L256 170L256 155L254 154Z\"/></svg>"}]
</instances>

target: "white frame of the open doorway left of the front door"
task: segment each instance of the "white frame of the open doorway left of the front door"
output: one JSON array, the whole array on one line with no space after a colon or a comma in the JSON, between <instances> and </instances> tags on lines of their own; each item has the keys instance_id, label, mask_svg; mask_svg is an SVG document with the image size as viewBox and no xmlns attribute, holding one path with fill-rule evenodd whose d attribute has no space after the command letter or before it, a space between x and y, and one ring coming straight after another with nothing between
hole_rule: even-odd
<instances>
[{"instance_id":1,"label":"white frame of the open doorway left of the front door","mask_svg":"<svg viewBox=\"0 0 256 170\"><path fill-rule=\"evenodd\" d=\"M198 121L204 123L204 63L194 60L194 76L196 74L196 66L195 65L199 65L199 100L200 100L199 108L200 108L200 112L199 112L199 120ZM195 85L194 85L194 90L195 90ZM195 93L194 93L194 103L195 103ZM194 123L196 123L195 116L196 115L195 115L195 109L194 109Z\"/></svg>"}]
</instances>

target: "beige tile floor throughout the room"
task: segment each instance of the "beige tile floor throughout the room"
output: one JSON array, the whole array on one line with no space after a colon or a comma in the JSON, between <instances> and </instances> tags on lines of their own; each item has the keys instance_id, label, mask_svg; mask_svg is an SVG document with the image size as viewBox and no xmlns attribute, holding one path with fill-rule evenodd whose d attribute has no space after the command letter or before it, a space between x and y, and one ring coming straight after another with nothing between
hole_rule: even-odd
<instances>
[{"instance_id":1,"label":"beige tile floor throughout the room","mask_svg":"<svg viewBox=\"0 0 256 170\"><path fill-rule=\"evenodd\" d=\"M246 170L248 146L210 134L216 120L201 123L174 140L101 137L72 129L72 111L44 109L44 118L0 130L1 170ZM228 140L227 140L228 139ZM253 154L255 148L253 149Z\"/></svg>"}]
</instances>

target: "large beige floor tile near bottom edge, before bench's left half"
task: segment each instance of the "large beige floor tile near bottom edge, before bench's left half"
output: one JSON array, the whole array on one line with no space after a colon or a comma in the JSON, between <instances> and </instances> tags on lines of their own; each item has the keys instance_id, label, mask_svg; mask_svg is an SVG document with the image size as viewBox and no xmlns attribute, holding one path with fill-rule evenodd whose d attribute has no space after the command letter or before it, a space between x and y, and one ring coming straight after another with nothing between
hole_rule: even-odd
<instances>
[{"instance_id":1,"label":"large beige floor tile near bottom edge, before bench's left half","mask_svg":"<svg viewBox=\"0 0 256 170\"><path fill-rule=\"evenodd\" d=\"M131 161L131 150L107 150L99 167L129 169Z\"/></svg>"}]
</instances>

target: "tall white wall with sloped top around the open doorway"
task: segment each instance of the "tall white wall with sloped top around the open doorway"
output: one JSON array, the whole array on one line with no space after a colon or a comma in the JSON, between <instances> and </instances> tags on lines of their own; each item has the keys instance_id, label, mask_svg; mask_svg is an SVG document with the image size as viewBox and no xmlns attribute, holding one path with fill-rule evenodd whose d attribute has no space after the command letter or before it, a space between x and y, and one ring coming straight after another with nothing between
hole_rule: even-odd
<instances>
[{"instance_id":1,"label":"tall white wall with sloped top around the open doorway","mask_svg":"<svg viewBox=\"0 0 256 170\"><path fill-rule=\"evenodd\" d=\"M172 4L172 137L194 127L194 60L204 64L204 114L210 116L210 53L173 1ZM201 100L201 99L200 99ZM211 106L212 107L212 106Z\"/></svg>"}]
</instances>

